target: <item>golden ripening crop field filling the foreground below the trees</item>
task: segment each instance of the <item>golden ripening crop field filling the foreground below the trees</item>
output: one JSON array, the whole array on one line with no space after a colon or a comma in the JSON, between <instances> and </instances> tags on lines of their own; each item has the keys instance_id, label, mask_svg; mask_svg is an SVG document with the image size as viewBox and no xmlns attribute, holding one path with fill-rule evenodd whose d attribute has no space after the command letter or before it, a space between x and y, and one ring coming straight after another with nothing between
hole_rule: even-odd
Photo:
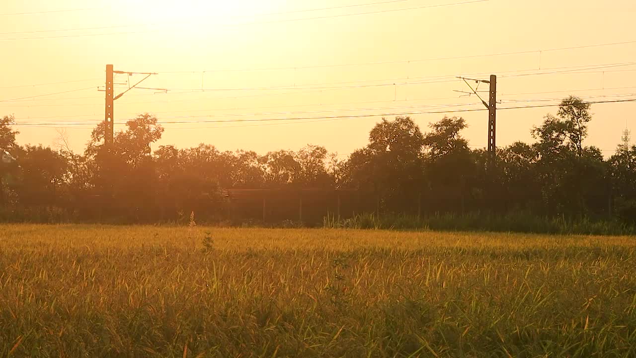
<instances>
[{"instance_id":1,"label":"golden ripening crop field filling the foreground below the trees","mask_svg":"<svg viewBox=\"0 0 636 358\"><path fill-rule=\"evenodd\" d=\"M1 357L636 357L636 240L0 226Z\"/></svg>"}]
</instances>

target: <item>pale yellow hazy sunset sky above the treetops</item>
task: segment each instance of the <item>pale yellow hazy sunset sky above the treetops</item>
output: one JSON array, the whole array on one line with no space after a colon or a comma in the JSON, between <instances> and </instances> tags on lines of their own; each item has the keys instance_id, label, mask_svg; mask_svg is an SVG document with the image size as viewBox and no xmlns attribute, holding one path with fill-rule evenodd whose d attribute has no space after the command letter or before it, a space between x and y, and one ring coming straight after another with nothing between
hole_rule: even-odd
<instances>
[{"instance_id":1,"label":"pale yellow hazy sunset sky above the treetops","mask_svg":"<svg viewBox=\"0 0 636 358\"><path fill-rule=\"evenodd\" d=\"M158 145L264 154L311 143L346 155L380 117L344 117L417 113L422 131L464 117L464 136L485 147L487 111L452 112L485 109L453 92L470 90L454 76L498 75L499 108L636 99L635 15L633 0L4 0L0 115L15 114L20 143L53 145L62 128L83 152L113 64L158 73L114 114L116 130L145 112L168 122ZM117 75L116 93L142 78ZM636 102L592 110L586 144L611 155L636 127ZM499 110L497 145L531 142L555 112Z\"/></svg>"}]
</instances>

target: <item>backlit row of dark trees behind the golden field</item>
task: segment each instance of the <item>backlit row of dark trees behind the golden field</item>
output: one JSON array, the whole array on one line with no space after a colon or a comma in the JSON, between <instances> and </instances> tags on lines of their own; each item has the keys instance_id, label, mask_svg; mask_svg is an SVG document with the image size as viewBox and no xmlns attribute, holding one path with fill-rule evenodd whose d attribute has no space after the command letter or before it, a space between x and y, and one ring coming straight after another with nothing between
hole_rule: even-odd
<instances>
[{"instance_id":1,"label":"backlit row of dark trees behind the golden field","mask_svg":"<svg viewBox=\"0 0 636 358\"><path fill-rule=\"evenodd\" d=\"M473 150L463 118L444 117L422 131L410 117L383 118L369 142L348 158L307 145L259 155L151 145L162 138L156 117L139 115L104 146L104 124L78 154L61 138L56 148L20 146L13 116L0 120L2 220L165 222L194 211L227 217L225 189L357 190L384 213L511 212L585 217L636 224L636 146L619 145L604 159L585 145L590 104L562 101L532 128L535 143ZM375 199L374 199L375 201Z\"/></svg>"}]
</instances>

